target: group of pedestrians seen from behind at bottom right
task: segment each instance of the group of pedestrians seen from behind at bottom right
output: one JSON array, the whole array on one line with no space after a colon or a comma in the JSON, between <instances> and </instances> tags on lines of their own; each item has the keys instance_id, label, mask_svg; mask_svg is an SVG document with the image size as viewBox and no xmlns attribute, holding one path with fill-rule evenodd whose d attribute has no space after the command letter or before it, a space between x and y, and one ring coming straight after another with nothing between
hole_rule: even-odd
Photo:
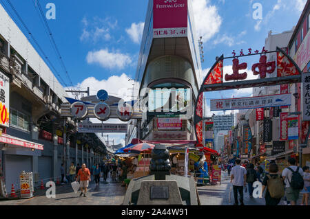
<instances>
[{"instance_id":1,"label":"group of pedestrians seen from behind at bottom right","mask_svg":"<svg viewBox=\"0 0 310 219\"><path fill-rule=\"evenodd\" d=\"M242 163L240 159L236 159L236 165L227 172L231 176L231 183L234 189L234 205L244 205L243 202L243 188L248 184L249 196L253 198L255 181L262 182L262 198L264 192L266 205L278 205L280 200L284 197L289 205L296 205L300 192L302 192L302 205L308 205L308 198L310 192L310 174L309 167L300 168L296 165L296 159L289 158L290 166L278 174L278 165L270 163L269 173L261 181L260 176L264 172L260 163L256 163L256 167L252 163ZM261 168L261 169L260 169ZM239 194L239 200L238 200Z\"/></svg>"}]
</instances>

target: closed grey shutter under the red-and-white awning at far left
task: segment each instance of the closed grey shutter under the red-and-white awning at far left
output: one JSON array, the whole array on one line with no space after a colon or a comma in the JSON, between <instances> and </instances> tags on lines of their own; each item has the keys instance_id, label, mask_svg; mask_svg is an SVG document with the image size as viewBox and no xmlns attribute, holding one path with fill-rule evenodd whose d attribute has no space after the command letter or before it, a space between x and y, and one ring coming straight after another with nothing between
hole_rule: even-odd
<instances>
[{"instance_id":1,"label":"closed grey shutter under the red-and-white awning at far left","mask_svg":"<svg viewBox=\"0 0 310 219\"><path fill-rule=\"evenodd\" d=\"M6 155L5 159L6 189L10 193L12 184L16 190L19 189L19 174L21 172L32 172L32 157Z\"/></svg>"}]
</instances>

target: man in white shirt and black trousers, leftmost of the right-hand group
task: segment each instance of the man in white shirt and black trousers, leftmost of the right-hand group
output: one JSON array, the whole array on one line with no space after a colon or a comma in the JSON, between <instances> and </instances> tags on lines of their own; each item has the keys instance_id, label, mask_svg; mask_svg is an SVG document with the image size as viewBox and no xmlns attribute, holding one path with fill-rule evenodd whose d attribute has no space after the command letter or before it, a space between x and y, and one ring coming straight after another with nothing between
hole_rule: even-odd
<instances>
[{"instance_id":1,"label":"man in white shirt and black trousers, leftmost of the right-hand group","mask_svg":"<svg viewBox=\"0 0 310 219\"><path fill-rule=\"evenodd\" d=\"M234 205L238 205L238 192L240 195L240 205L245 205L243 203L243 187L247 182L247 170L244 167L240 166L241 160L236 159L236 166L231 169L230 183L232 183L234 188Z\"/></svg>"}]
</instances>

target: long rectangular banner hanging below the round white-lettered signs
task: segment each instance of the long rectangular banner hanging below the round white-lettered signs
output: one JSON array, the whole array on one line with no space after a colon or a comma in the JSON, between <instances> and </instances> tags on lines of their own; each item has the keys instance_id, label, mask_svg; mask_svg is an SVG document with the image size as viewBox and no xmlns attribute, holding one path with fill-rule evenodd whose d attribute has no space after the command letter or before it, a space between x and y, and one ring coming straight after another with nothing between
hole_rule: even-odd
<instances>
[{"instance_id":1,"label":"long rectangular banner hanging below the round white-lettered signs","mask_svg":"<svg viewBox=\"0 0 310 219\"><path fill-rule=\"evenodd\" d=\"M80 133L127 133L127 124L82 124L78 126Z\"/></svg>"}]
</instances>

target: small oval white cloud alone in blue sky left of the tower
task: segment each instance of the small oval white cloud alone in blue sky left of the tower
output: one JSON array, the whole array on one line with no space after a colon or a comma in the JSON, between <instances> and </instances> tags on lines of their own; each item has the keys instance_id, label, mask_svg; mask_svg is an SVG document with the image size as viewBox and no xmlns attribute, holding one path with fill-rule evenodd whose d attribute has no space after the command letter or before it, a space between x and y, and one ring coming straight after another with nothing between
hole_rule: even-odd
<instances>
[{"instance_id":1,"label":"small oval white cloud alone in blue sky left of the tower","mask_svg":"<svg viewBox=\"0 0 310 219\"><path fill-rule=\"evenodd\" d=\"M107 69L124 69L132 63L130 55L110 52L109 49L89 51L86 60L88 64L97 63Z\"/></svg>"}]
</instances>

